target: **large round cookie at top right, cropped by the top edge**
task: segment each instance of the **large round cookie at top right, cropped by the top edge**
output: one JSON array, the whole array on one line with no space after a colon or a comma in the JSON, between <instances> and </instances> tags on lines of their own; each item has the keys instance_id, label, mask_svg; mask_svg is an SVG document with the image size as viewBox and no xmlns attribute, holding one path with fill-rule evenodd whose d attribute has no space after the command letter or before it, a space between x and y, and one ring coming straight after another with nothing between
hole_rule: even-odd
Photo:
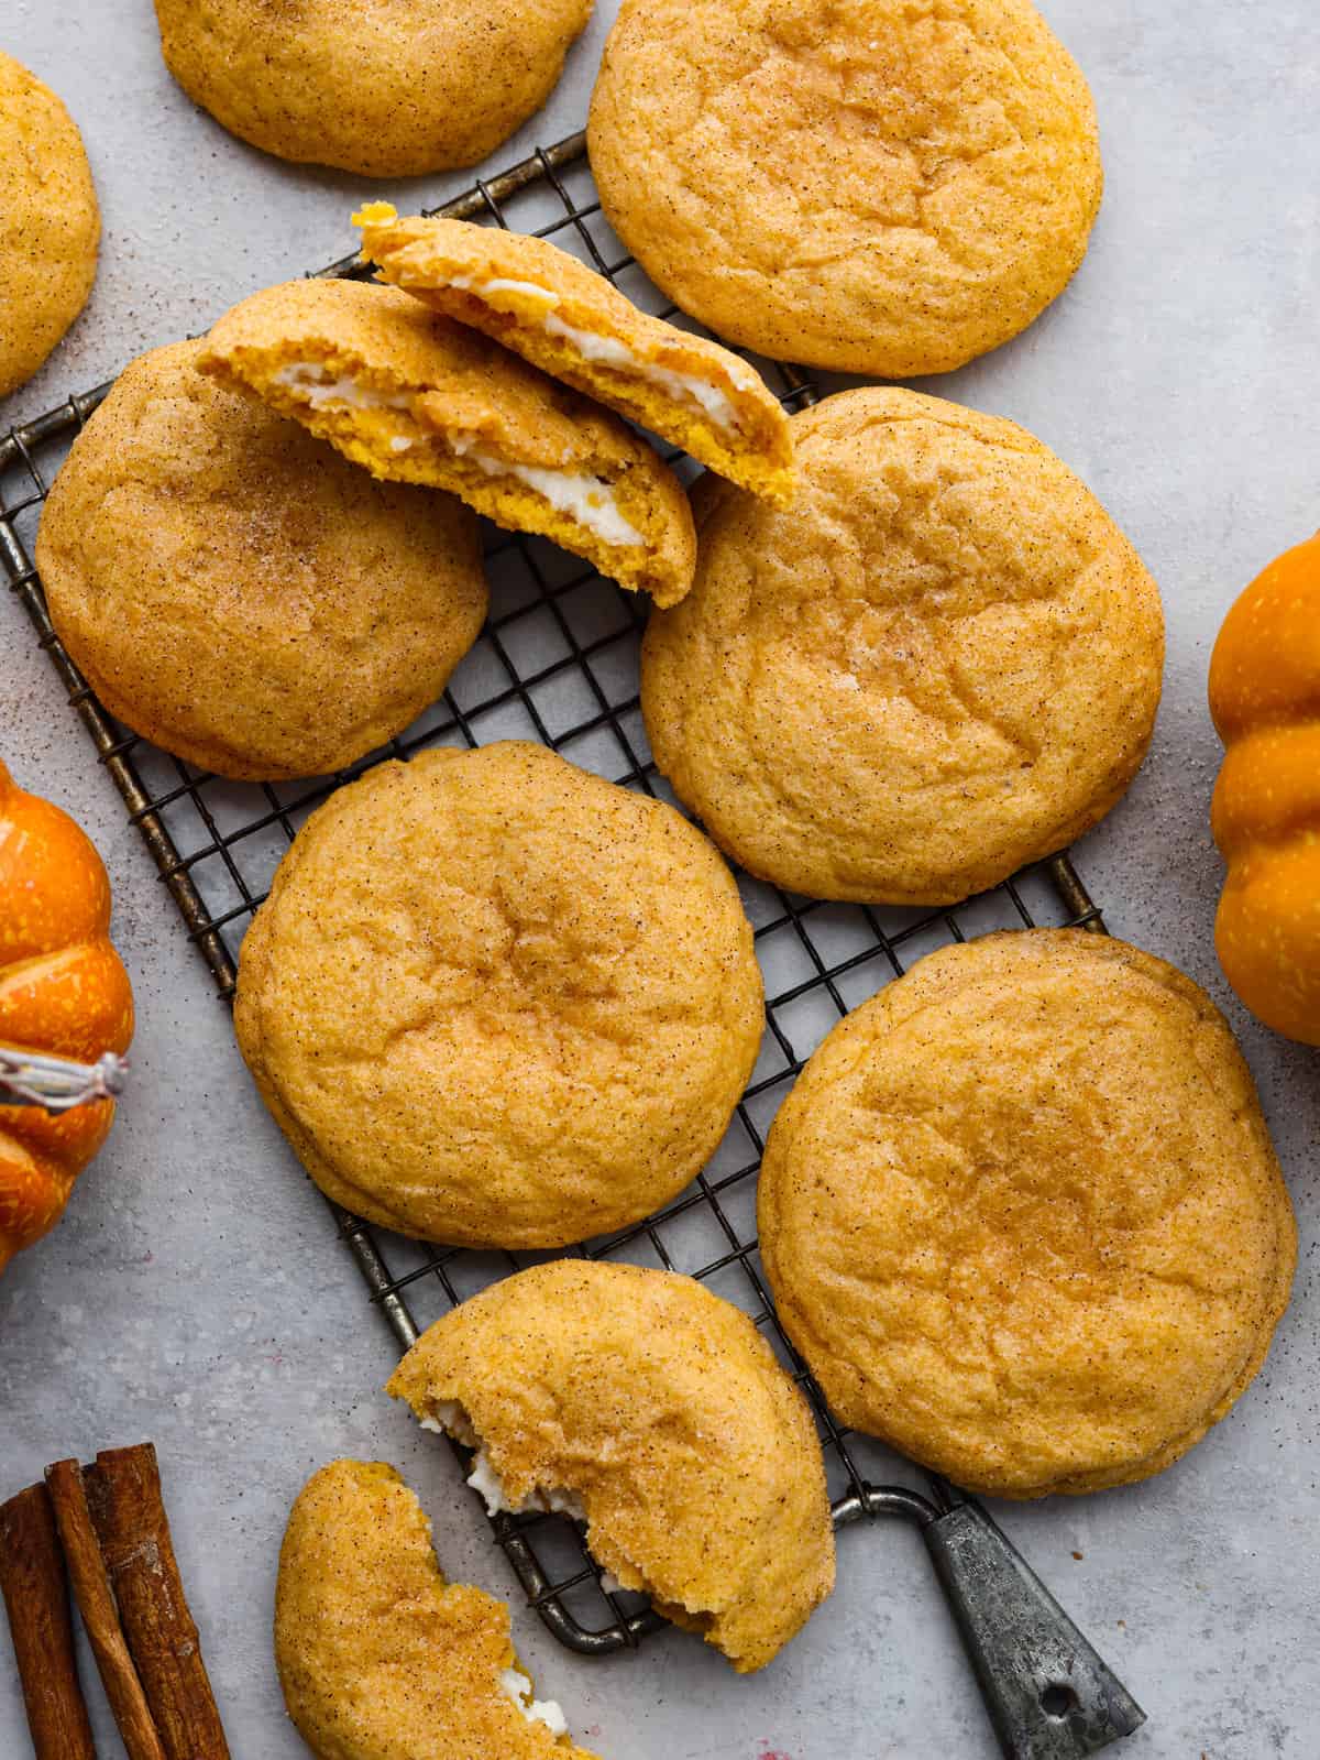
<instances>
[{"instance_id":1,"label":"large round cookie at top right, cropped by the top edge","mask_svg":"<svg viewBox=\"0 0 1320 1760\"><path fill-rule=\"evenodd\" d=\"M1026 329L1100 206L1091 93L1028 0L625 0L588 143L685 312L884 378Z\"/></svg>"}]
</instances>

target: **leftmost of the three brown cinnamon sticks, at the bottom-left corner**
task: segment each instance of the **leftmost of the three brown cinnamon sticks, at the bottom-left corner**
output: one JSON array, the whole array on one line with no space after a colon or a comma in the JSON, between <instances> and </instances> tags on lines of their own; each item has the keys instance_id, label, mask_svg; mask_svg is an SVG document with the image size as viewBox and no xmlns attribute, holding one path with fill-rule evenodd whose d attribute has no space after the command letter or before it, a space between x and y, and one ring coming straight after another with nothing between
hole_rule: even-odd
<instances>
[{"instance_id":1,"label":"leftmost of the three brown cinnamon sticks, at the bottom-left corner","mask_svg":"<svg viewBox=\"0 0 1320 1760\"><path fill-rule=\"evenodd\" d=\"M97 1760L77 1684L69 1579L46 1485L28 1485L0 1505L0 1593L37 1760Z\"/></svg>"}]
</instances>

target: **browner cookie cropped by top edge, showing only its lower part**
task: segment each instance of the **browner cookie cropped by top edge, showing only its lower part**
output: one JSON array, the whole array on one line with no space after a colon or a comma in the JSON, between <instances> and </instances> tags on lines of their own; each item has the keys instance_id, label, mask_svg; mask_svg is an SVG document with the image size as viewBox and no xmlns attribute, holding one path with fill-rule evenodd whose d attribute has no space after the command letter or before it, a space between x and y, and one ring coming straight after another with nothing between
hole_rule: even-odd
<instances>
[{"instance_id":1,"label":"browner cookie cropped by top edge, showing only its lower part","mask_svg":"<svg viewBox=\"0 0 1320 1760\"><path fill-rule=\"evenodd\" d=\"M231 134L366 178L475 165L540 109L591 0L157 0L165 65Z\"/></svg>"}]
</instances>

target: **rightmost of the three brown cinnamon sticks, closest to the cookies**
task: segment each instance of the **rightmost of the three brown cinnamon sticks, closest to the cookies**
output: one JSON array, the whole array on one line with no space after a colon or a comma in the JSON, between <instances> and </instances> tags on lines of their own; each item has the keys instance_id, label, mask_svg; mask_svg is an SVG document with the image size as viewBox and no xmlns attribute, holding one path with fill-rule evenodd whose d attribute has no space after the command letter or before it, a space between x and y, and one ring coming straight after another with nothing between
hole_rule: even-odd
<instances>
[{"instance_id":1,"label":"rightmost of the three brown cinnamon sticks, closest to the cookies","mask_svg":"<svg viewBox=\"0 0 1320 1760\"><path fill-rule=\"evenodd\" d=\"M157 1452L102 1448L83 1473L128 1649L167 1760L229 1760L197 1626L183 1595Z\"/></svg>"}]
</instances>

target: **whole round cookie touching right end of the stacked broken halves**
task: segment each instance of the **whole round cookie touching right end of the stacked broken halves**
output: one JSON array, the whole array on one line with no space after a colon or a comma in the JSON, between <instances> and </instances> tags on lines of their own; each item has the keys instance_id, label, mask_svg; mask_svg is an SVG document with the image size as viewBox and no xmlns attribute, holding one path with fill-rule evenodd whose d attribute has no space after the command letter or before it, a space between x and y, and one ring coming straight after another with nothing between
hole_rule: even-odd
<instances>
[{"instance_id":1,"label":"whole round cookie touching right end of the stacked broken halves","mask_svg":"<svg viewBox=\"0 0 1320 1760\"><path fill-rule=\"evenodd\" d=\"M1158 590L1012 422L868 389L792 428L783 512L702 484L697 583L642 646L656 764L766 880L952 903L1063 848L1132 781L1160 700Z\"/></svg>"}]
</instances>

